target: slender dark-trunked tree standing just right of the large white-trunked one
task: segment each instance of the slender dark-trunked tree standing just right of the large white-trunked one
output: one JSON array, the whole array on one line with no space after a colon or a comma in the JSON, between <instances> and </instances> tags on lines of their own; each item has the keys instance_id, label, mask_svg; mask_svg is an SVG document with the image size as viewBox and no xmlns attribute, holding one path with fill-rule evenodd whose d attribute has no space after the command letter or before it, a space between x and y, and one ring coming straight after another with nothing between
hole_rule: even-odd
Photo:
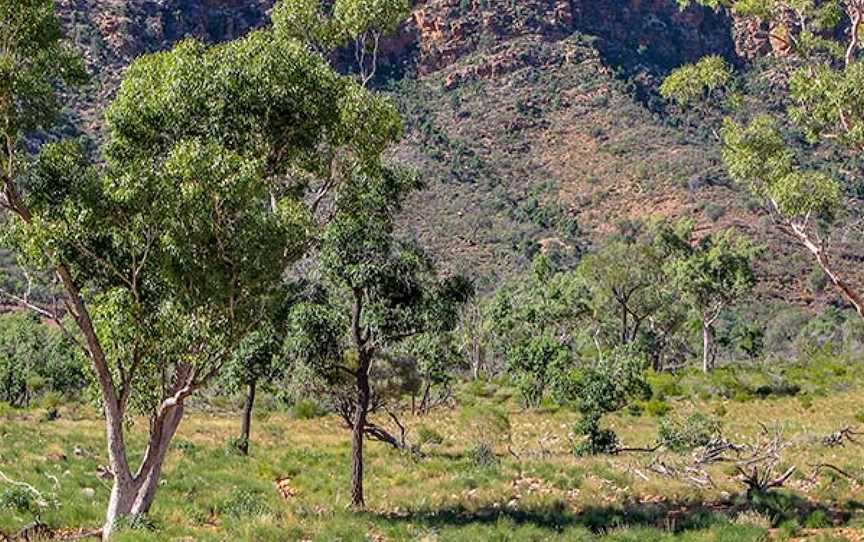
<instances>
[{"instance_id":1,"label":"slender dark-trunked tree standing just right of the large white-trunked one","mask_svg":"<svg viewBox=\"0 0 864 542\"><path fill-rule=\"evenodd\" d=\"M440 278L419 246L396 236L397 214L418 186L413 175L389 169L346 181L321 239L321 284L329 295L295 307L286 340L292 357L318 374L353 381L351 502L357 508L365 506L363 441L372 428L376 363L406 342L452 331L472 293L464 278Z\"/></svg>"}]
</instances>

